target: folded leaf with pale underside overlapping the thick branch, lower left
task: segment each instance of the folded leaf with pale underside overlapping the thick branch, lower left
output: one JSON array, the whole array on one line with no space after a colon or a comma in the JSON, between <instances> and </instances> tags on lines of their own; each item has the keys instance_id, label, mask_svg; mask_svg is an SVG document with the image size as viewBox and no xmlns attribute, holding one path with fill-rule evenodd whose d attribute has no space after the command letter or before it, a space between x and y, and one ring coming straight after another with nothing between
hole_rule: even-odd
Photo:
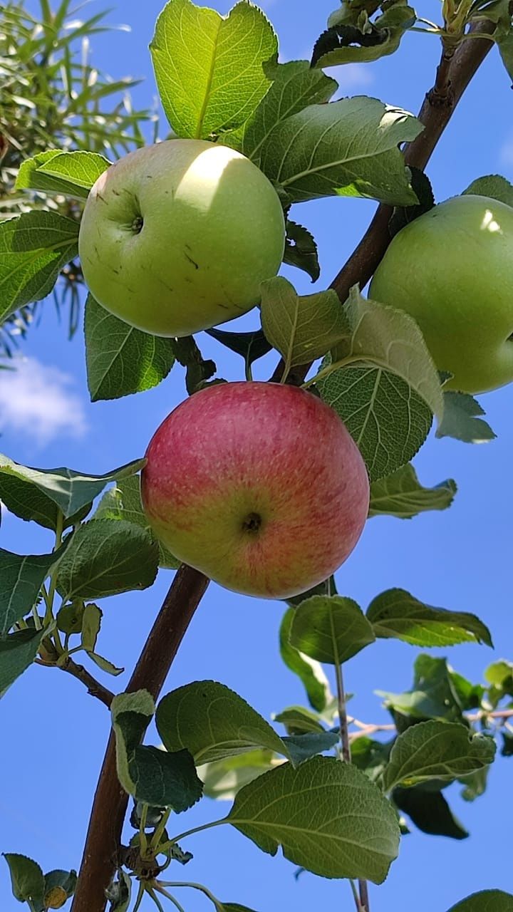
<instances>
[{"instance_id":1,"label":"folded leaf with pale underside overlapping the thick branch, lower left","mask_svg":"<svg viewBox=\"0 0 513 912\"><path fill-rule=\"evenodd\" d=\"M116 736L116 768L125 792L135 794L130 764L144 732L152 721L155 702L148 690L120 693L110 704L110 718Z\"/></svg>"}]
</instances>

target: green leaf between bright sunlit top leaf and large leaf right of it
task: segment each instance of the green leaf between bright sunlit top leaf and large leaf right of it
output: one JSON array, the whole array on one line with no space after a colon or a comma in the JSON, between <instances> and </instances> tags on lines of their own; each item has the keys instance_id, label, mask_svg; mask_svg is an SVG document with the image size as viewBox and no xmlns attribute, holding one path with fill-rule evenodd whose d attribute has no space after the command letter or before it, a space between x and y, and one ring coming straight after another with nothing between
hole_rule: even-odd
<instances>
[{"instance_id":1,"label":"green leaf between bright sunlit top leaf and large leaf right of it","mask_svg":"<svg viewBox=\"0 0 513 912\"><path fill-rule=\"evenodd\" d=\"M337 90L335 80L312 69L308 60L267 64L265 68L273 79L267 94L242 127L223 136L224 144L243 152L258 166L262 149L278 124L309 105L329 101Z\"/></svg>"}]
</instances>

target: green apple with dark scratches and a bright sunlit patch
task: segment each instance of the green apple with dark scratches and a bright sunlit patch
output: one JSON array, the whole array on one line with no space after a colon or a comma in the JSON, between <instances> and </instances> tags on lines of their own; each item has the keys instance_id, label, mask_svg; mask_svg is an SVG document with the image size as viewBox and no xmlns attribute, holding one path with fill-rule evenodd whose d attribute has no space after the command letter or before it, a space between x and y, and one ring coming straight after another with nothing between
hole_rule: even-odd
<instances>
[{"instance_id":1,"label":"green apple with dark scratches and a bright sunlit patch","mask_svg":"<svg viewBox=\"0 0 513 912\"><path fill-rule=\"evenodd\" d=\"M157 336L189 336L245 314L284 247L282 207L266 175L206 140L166 140L110 165L79 232L91 294Z\"/></svg>"}]
</instances>

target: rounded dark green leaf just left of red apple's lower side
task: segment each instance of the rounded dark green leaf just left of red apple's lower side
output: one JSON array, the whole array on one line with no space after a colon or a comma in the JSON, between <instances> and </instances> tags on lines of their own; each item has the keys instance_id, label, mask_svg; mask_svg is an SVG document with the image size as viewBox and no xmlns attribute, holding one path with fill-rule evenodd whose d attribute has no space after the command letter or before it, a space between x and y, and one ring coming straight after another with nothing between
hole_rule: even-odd
<instances>
[{"instance_id":1,"label":"rounded dark green leaf just left of red apple's lower side","mask_svg":"<svg viewBox=\"0 0 513 912\"><path fill-rule=\"evenodd\" d=\"M94 520L73 535L58 567L58 592L69 600L146 589L157 569L157 544L141 526Z\"/></svg>"}]
</instances>

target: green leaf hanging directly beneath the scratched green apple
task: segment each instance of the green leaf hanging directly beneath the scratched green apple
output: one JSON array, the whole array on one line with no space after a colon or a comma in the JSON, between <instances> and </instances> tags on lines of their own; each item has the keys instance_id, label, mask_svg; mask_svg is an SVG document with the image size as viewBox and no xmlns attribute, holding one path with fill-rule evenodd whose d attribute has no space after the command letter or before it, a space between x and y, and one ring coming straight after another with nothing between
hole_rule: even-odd
<instances>
[{"instance_id":1,"label":"green leaf hanging directly beneath the scratched green apple","mask_svg":"<svg viewBox=\"0 0 513 912\"><path fill-rule=\"evenodd\" d=\"M91 402L156 387L174 364L173 341L142 333L88 296L84 319Z\"/></svg>"}]
</instances>

